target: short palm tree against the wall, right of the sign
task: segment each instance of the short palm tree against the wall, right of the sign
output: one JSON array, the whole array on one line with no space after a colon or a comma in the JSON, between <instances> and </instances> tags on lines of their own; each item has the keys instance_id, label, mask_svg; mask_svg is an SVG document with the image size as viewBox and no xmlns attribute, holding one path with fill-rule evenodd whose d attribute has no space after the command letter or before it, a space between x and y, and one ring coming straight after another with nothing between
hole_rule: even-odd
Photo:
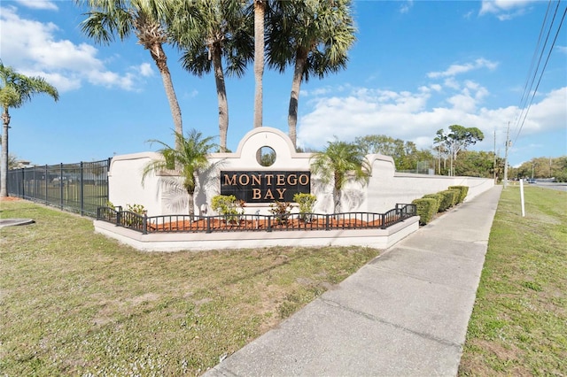
<instances>
[{"instance_id":1,"label":"short palm tree against the wall, right of the sign","mask_svg":"<svg viewBox=\"0 0 567 377\"><path fill-rule=\"evenodd\" d=\"M371 166L361 149L348 142L328 142L321 152L316 152L311 170L318 174L323 183L333 183L333 204L335 213L340 212L342 189L351 177L355 181L368 182Z\"/></svg>"}]
</instances>

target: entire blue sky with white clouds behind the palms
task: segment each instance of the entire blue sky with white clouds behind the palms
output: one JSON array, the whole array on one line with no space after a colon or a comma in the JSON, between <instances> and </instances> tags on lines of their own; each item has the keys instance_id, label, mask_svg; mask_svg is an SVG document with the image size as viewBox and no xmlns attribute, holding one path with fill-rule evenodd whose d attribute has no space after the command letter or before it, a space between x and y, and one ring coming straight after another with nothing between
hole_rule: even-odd
<instances>
[{"instance_id":1,"label":"entire blue sky with white clouds behind the palms","mask_svg":"<svg viewBox=\"0 0 567 377\"><path fill-rule=\"evenodd\" d=\"M334 136L389 135L431 148L439 128L459 124L485 134L474 150L493 150L495 132L503 157L509 125L510 165L567 155L566 26L550 50L564 3L551 24L556 1L354 0L357 42L347 69L302 84L299 146L322 148ZM149 139L173 144L167 98L149 52L134 39L95 44L82 35L82 12L72 1L0 4L4 65L43 76L60 95L58 103L35 96L11 110L10 152L51 165L155 150ZM540 33L545 38L548 31L546 49L538 49ZM214 77L192 76L176 50L167 54L184 129L218 135ZM536 72L532 62L540 54ZM264 125L283 132L291 73L264 73ZM236 150L252 129L252 66L243 78L228 79L227 90L228 147Z\"/></svg>"}]
</instances>

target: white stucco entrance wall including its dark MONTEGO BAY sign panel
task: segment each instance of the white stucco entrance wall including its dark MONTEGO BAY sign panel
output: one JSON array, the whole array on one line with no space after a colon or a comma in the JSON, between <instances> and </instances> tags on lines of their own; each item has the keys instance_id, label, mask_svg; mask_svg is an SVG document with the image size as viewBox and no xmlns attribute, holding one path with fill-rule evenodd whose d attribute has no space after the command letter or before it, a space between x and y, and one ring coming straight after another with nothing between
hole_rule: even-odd
<instances>
[{"instance_id":1,"label":"white stucco entrance wall including its dark MONTEGO BAY sign panel","mask_svg":"<svg viewBox=\"0 0 567 377\"><path fill-rule=\"evenodd\" d=\"M266 153L268 151L268 153ZM246 202L246 213L269 214L274 201L291 202L297 192L314 194L314 212L333 212L332 185L310 173L312 153L295 151L290 138L271 127L252 129L234 153L212 153L210 166L198 174L194 195L197 215L214 215L214 196L235 195ZM155 152L116 156L109 172L109 199L114 205L142 204L148 216L187 214L188 195L181 178L171 173L149 175L142 185L144 166L159 158ZM343 212L391 210L424 194L449 186L469 186L469 198L493 187L493 180L396 173L393 159L367 156L372 175L367 185L348 182L341 196ZM297 211L294 210L294 211Z\"/></svg>"}]
</instances>

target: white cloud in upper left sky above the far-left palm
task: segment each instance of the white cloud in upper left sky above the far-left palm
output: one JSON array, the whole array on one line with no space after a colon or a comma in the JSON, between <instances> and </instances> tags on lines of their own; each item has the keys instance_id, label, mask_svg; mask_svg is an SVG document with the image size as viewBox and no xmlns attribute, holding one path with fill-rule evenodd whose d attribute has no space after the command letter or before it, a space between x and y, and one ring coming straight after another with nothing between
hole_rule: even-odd
<instances>
[{"instance_id":1,"label":"white cloud in upper left sky above the far-left palm","mask_svg":"<svg viewBox=\"0 0 567 377\"><path fill-rule=\"evenodd\" d=\"M36 3L36 8L40 3L45 7L49 4L32 3ZM14 7L2 7L0 21L4 65L11 65L19 73L42 76L59 92L81 88L84 81L109 88L136 88L139 75L111 72L105 62L97 58L97 48L88 43L58 39L58 26L51 22L22 19ZM140 65L137 73L147 76L151 68Z\"/></svg>"}]
</instances>

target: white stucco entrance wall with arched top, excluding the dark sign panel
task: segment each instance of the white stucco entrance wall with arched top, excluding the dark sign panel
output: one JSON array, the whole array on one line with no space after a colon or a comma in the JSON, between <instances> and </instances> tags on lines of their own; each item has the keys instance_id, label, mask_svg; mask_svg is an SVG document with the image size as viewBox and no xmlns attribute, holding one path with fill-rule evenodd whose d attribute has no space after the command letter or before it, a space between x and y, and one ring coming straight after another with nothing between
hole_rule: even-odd
<instances>
[{"instance_id":1,"label":"white stucco entrance wall with arched top, excluding the dark sign panel","mask_svg":"<svg viewBox=\"0 0 567 377\"><path fill-rule=\"evenodd\" d=\"M275 150L276 161L265 167L256 156L260 148L268 146ZM195 193L196 214L206 205L207 215L211 211L211 199L221 192L221 170L227 171L309 171L311 153L297 153L291 140L282 131L271 127L260 127L250 131L238 144L235 153L213 153L211 166L199 174ZM187 213L187 194L180 188L178 177L150 174L142 186L142 172L152 158L159 158L154 152L116 156L109 172L109 199L114 205L142 204L149 216ZM469 196L477 196L493 187L493 180L471 177L446 177L424 174L395 173L393 159L382 155L369 155L372 175L368 185L350 182L344 189L343 212L386 212L397 203L411 203L417 197L435 193L449 186L469 186ZM175 184L177 182L177 184ZM332 212L332 187L322 185L311 175L311 193L317 196L315 212ZM247 204L246 213L268 214L269 204Z\"/></svg>"}]
</instances>

